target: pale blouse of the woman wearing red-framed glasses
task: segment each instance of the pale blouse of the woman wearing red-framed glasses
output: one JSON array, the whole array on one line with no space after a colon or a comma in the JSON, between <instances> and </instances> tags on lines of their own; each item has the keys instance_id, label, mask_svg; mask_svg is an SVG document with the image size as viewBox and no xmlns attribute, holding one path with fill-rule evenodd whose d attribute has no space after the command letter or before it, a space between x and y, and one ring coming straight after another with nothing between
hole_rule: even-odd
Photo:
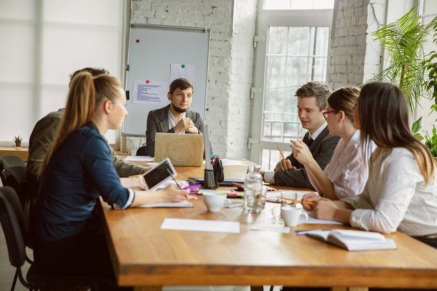
<instances>
[{"instance_id":1,"label":"pale blouse of the woman wearing red-framed glasses","mask_svg":"<svg viewBox=\"0 0 437 291\"><path fill-rule=\"evenodd\" d=\"M371 151L376 144L371 142ZM360 130L356 130L346 144L343 139L335 147L331 161L323 172L334 184L335 195L344 197L361 194L369 177L369 158L371 153L362 154Z\"/></svg>"}]
</instances>

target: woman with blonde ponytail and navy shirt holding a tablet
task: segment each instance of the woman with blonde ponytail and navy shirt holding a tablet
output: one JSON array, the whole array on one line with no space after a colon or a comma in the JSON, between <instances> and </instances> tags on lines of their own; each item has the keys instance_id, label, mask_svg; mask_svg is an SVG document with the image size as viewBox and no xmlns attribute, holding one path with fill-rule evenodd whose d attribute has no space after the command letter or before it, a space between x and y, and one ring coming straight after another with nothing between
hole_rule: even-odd
<instances>
[{"instance_id":1,"label":"woman with blonde ponytail and navy shirt holding a tablet","mask_svg":"<svg viewBox=\"0 0 437 291\"><path fill-rule=\"evenodd\" d=\"M114 209L186 200L186 190L168 186L142 191L145 181L119 178L105 133L128 114L126 95L108 74L73 77L57 137L40 167L32 239L36 267L47 274L88 276L99 290L119 288L103 234L98 199ZM188 196L189 199L196 199Z\"/></svg>"}]
</instances>

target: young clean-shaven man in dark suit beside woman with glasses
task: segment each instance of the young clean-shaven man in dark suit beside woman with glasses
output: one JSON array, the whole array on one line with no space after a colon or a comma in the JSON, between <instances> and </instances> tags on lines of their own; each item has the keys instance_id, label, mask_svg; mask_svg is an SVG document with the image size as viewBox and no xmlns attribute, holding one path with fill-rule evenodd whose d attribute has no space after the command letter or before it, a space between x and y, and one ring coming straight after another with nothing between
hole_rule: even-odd
<instances>
[{"instance_id":1,"label":"young clean-shaven man in dark suit beside woman with glasses","mask_svg":"<svg viewBox=\"0 0 437 291\"><path fill-rule=\"evenodd\" d=\"M303 128L308 132L302 142L306 143L318 165L325 169L331 160L339 136L329 134L323 110L331 90L323 82L311 81L297 89L297 111ZM278 185L311 188L304 165L291 154L285 161L276 164L274 172L261 172L265 181Z\"/></svg>"}]
</instances>

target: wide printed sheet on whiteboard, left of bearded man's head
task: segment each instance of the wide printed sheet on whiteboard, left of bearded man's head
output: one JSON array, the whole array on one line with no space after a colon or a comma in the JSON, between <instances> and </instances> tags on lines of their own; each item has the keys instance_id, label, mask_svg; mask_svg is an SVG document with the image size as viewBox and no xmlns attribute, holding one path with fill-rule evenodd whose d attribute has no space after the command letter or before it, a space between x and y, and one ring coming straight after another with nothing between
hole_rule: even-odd
<instances>
[{"instance_id":1,"label":"wide printed sheet on whiteboard, left of bearded man's head","mask_svg":"<svg viewBox=\"0 0 437 291\"><path fill-rule=\"evenodd\" d=\"M136 104L168 105L168 83L133 80L133 100Z\"/></svg>"}]
</instances>

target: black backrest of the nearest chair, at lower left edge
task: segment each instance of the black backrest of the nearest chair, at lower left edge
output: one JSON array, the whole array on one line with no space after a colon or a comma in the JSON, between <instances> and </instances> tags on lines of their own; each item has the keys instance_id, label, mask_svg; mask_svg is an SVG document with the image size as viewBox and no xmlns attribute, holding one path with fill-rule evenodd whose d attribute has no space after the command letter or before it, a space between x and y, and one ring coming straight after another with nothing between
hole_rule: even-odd
<instances>
[{"instance_id":1,"label":"black backrest of the nearest chair, at lower left edge","mask_svg":"<svg viewBox=\"0 0 437 291\"><path fill-rule=\"evenodd\" d=\"M26 223L15 190L9 186L0 188L0 221L8 246L9 261L20 268L26 261Z\"/></svg>"}]
</instances>

